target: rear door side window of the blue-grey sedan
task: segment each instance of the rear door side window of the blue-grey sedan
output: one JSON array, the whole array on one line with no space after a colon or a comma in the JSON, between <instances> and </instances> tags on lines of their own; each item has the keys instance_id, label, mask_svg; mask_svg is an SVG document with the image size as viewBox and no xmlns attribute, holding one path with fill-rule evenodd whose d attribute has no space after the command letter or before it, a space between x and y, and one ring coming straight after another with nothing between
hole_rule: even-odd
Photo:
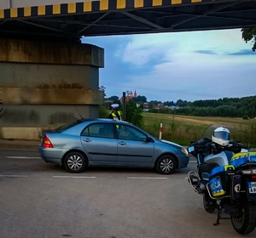
<instances>
[{"instance_id":1,"label":"rear door side window of the blue-grey sedan","mask_svg":"<svg viewBox=\"0 0 256 238\"><path fill-rule=\"evenodd\" d=\"M95 123L85 127L82 136L113 139L113 125L110 123Z\"/></svg>"}]
</instances>

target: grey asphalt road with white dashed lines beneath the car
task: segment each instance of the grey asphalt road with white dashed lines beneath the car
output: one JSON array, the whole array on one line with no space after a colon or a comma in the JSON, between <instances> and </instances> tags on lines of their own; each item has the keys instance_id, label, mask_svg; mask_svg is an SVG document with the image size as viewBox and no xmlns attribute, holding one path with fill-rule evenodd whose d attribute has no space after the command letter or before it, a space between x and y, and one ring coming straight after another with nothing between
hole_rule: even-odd
<instances>
[{"instance_id":1,"label":"grey asphalt road with white dashed lines beneath the car","mask_svg":"<svg viewBox=\"0 0 256 238\"><path fill-rule=\"evenodd\" d=\"M67 173L37 150L0 150L0 238L241 238L230 220L213 226L189 167L164 176L148 169ZM256 237L256 229L246 237Z\"/></svg>"}]
</instances>

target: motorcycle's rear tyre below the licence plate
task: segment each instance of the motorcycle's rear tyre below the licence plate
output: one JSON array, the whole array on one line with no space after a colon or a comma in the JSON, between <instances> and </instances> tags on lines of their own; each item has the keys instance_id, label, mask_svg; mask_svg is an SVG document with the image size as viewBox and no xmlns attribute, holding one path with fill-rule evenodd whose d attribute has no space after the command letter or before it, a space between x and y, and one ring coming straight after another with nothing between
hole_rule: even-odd
<instances>
[{"instance_id":1,"label":"motorcycle's rear tyre below the licence plate","mask_svg":"<svg viewBox=\"0 0 256 238\"><path fill-rule=\"evenodd\" d=\"M231 217L233 228L242 235L247 235L256 226L256 203L241 201L239 214Z\"/></svg>"}]
</instances>

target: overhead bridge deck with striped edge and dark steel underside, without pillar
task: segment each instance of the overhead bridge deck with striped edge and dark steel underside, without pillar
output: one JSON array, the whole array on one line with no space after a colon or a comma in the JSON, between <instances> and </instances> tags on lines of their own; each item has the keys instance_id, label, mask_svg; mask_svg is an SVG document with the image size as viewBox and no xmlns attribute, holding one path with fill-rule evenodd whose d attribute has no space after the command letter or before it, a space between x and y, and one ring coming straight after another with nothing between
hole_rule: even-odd
<instances>
[{"instance_id":1,"label":"overhead bridge deck with striped edge and dark steel underside, without pillar","mask_svg":"<svg viewBox=\"0 0 256 238\"><path fill-rule=\"evenodd\" d=\"M256 26L255 0L6 0L0 3L0 36L4 37L77 41L82 36L249 26Z\"/></svg>"}]
</instances>

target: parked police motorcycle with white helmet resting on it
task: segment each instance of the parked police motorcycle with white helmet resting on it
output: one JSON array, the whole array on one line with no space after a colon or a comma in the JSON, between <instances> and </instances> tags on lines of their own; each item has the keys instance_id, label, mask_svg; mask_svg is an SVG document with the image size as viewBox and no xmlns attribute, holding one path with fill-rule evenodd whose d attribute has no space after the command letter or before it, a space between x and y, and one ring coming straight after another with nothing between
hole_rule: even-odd
<instances>
[{"instance_id":1,"label":"parked police motorcycle with white helmet resting on it","mask_svg":"<svg viewBox=\"0 0 256 238\"><path fill-rule=\"evenodd\" d=\"M210 134L212 139L206 137ZM207 212L218 210L214 225L231 219L236 232L251 233L256 226L256 152L230 139L230 130L219 125L208 127L188 151L197 159L197 171L188 174L189 184L203 195ZM223 212L228 218L222 217Z\"/></svg>"}]
</instances>

